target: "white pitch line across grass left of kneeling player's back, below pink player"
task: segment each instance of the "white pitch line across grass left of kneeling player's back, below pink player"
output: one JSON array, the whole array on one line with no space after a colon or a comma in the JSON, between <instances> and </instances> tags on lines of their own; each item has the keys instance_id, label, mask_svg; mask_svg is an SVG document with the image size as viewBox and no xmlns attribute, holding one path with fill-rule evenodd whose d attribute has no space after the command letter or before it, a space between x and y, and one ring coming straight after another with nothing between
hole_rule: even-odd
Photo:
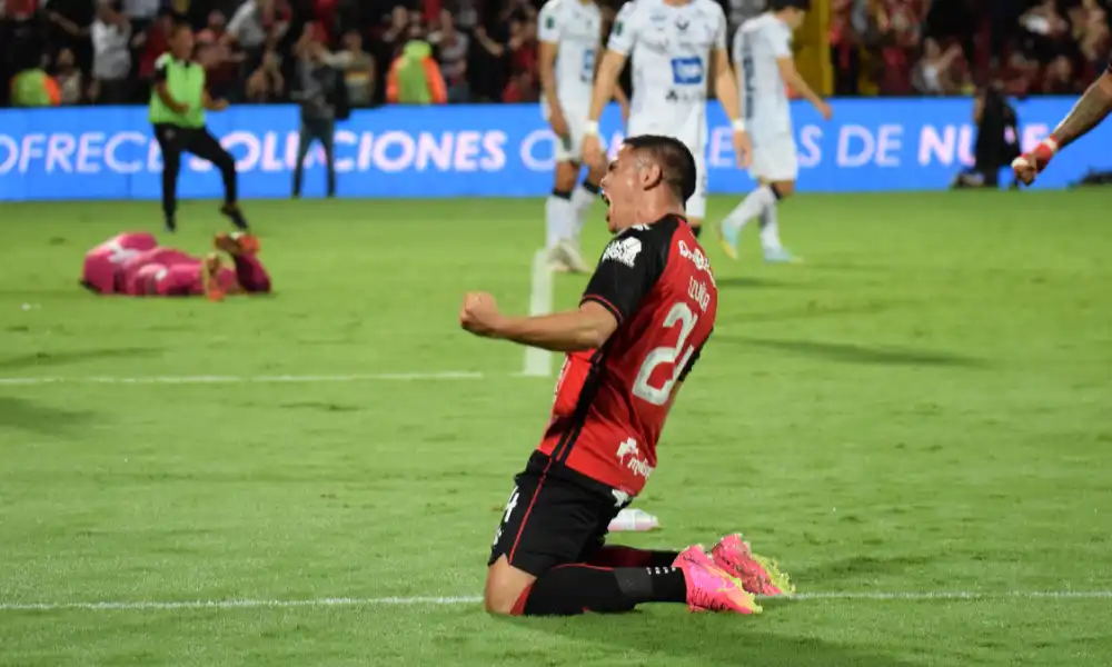
<instances>
[{"instance_id":1,"label":"white pitch line across grass left of kneeling player's back, below pink player","mask_svg":"<svg viewBox=\"0 0 1112 667\"><path fill-rule=\"evenodd\" d=\"M6 385L246 385L246 384L337 384L420 380L478 380L481 372L447 370L443 372L370 372L351 375L265 375L265 376L146 376L146 377L0 377Z\"/></svg>"}]
</instances>

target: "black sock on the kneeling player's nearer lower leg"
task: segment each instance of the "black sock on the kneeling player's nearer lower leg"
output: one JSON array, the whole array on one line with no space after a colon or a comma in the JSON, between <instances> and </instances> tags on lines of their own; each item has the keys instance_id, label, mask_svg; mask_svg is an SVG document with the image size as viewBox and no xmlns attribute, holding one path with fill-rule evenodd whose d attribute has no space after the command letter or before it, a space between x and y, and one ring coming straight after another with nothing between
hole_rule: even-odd
<instances>
[{"instance_id":1,"label":"black sock on the kneeling player's nearer lower leg","mask_svg":"<svg viewBox=\"0 0 1112 667\"><path fill-rule=\"evenodd\" d=\"M525 616L576 616L586 611L632 611L642 603L685 603L687 583L674 567L623 567L587 565L553 568L533 583Z\"/></svg>"}]
</instances>

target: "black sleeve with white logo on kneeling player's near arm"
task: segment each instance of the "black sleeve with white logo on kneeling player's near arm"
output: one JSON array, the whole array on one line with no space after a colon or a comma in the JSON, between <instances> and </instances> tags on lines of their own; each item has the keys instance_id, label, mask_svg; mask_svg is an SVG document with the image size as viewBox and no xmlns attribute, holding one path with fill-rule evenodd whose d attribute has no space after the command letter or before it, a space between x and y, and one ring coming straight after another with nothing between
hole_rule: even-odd
<instances>
[{"instance_id":1,"label":"black sleeve with white logo on kneeling player's near arm","mask_svg":"<svg viewBox=\"0 0 1112 667\"><path fill-rule=\"evenodd\" d=\"M636 312L664 270L652 239L638 233L623 235L606 246L579 303L602 305L620 325Z\"/></svg>"}]
</instances>

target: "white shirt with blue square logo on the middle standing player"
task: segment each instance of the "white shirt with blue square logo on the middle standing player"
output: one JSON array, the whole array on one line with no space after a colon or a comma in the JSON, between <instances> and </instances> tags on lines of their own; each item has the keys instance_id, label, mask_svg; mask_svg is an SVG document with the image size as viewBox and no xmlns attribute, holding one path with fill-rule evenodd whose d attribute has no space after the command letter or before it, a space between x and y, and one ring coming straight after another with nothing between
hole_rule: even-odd
<instances>
[{"instance_id":1,"label":"white shirt with blue square logo on the middle standing player","mask_svg":"<svg viewBox=\"0 0 1112 667\"><path fill-rule=\"evenodd\" d=\"M607 48L632 60L629 135L667 135L701 152L711 54L726 48L722 7L715 0L679 7L631 0L618 12Z\"/></svg>"}]
</instances>

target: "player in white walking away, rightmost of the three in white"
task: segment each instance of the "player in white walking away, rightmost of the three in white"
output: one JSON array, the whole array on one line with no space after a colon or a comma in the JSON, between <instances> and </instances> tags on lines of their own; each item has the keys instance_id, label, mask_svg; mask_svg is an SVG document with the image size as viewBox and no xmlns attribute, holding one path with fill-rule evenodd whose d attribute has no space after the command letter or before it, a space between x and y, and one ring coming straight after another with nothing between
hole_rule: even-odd
<instances>
[{"instance_id":1,"label":"player in white walking away, rightmost of the three in white","mask_svg":"<svg viewBox=\"0 0 1112 667\"><path fill-rule=\"evenodd\" d=\"M768 6L770 11L742 23L734 36L741 102L753 139L749 175L757 188L726 216L719 231L726 255L737 259L742 228L759 218L765 261L786 262L794 258L780 241L776 203L795 191L800 163L785 86L814 104L825 120L832 111L800 76L792 57L792 31L803 24L811 1L771 0Z\"/></svg>"}]
</instances>

